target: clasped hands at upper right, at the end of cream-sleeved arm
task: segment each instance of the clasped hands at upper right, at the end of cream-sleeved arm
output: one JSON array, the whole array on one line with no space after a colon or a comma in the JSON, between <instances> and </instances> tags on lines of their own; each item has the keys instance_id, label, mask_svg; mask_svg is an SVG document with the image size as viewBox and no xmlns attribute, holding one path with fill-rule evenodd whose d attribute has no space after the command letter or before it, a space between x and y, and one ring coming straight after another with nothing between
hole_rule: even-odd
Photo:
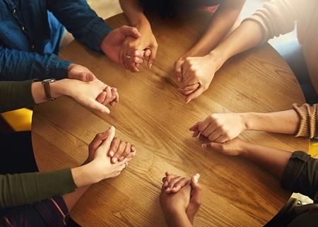
<instances>
[{"instance_id":1,"label":"clasped hands at upper right, at the end of cream-sleeved arm","mask_svg":"<svg viewBox=\"0 0 318 227\"><path fill-rule=\"evenodd\" d=\"M210 54L179 59L175 63L175 75L182 83L178 90L186 96L187 103L208 89L215 73L216 64Z\"/></svg>"}]
</instances>

